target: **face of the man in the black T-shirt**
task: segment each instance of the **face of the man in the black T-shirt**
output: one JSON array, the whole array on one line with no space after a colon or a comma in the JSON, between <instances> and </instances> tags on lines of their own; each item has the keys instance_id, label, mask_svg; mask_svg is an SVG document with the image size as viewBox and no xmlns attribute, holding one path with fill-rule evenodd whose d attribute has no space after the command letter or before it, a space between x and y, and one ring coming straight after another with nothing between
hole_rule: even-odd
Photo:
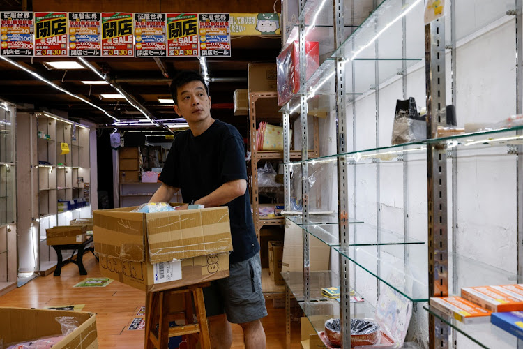
<instances>
[{"instance_id":1,"label":"face of the man in the black T-shirt","mask_svg":"<svg viewBox=\"0 0 523 349\"><path fill-rule=\"evenodd\" d=\"M174 111L188 122L202 121L211 117L211 97L207 96L204 84L195 80L179 87L178 103Z\"/></svg>"}]
</instances>

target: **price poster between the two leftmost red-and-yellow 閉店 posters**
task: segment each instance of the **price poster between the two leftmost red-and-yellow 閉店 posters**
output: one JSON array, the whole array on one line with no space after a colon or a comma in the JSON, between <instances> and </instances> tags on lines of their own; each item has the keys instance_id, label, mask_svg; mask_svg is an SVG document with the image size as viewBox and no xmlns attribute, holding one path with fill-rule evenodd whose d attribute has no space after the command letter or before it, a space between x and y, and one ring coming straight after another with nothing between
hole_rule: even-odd
<instances>
[{"instance_id":1,"label":"price poster between the two leftmost red-and-yellow \u9589\u5e97 posters","mask_svg":"<svg viewBox=\"0 0 523 349\"><path fill-rule=\"evenodd\" d=\"M102 54L100 13L69 13L69 56L89 57Z\"/></svg>"}]
</instances>

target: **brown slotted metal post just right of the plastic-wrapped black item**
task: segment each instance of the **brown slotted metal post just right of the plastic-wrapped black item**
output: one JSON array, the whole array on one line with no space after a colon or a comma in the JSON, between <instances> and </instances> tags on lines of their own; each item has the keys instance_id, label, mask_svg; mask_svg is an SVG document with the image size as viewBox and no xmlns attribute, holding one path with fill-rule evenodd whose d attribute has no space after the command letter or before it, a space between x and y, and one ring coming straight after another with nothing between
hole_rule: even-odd
<instances>
[{"instance_id":1,"label":"brown slotted metal post just right of the plastic-wrapped black item","mask_svg":"<svg viewBox=\"0 0 523 349\"><path fill-rule=\"evenodd\" d=\"M427 89L427 138L446 126L445 19L425 25L425 87ZM429 296L448 296L446 143L427 146L427 204ZM449 348L450 327L429 315L432 348Z\"/></svg>"}]
</instances>

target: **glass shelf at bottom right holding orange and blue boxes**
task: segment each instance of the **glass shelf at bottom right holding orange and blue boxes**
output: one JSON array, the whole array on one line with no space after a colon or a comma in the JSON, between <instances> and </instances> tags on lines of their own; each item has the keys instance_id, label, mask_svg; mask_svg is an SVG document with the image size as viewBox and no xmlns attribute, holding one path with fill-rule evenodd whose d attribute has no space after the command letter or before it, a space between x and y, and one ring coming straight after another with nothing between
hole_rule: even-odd
<instances>
[{"instance_id":1,"label":"glass shelf at bottom right holding orange and blue boxes","mask_svg":"<svg viewBox=\"0 0 523 349\"><path fill-rule=\"evenodd\" d=\"M463 322L432 308L432 306L423 306L423 309L483 348L516 348L517 346L517 338L513 334L492 325L490 320L485 323L465 325Z\"/></svg>"}]
</instances>

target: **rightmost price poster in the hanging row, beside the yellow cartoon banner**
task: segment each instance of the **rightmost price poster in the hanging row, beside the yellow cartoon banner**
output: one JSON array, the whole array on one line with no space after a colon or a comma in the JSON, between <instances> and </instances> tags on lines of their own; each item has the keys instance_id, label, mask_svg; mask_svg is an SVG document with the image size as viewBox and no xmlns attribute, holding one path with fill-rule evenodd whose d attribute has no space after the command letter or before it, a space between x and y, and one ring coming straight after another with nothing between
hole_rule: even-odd
<instances>
[{"instance_id":1,"label":"rightmost price poster in the hanging row, beside the yellow cartoon banner","mask_svg":"<svg viewBox=\"0 0 523 349\"><path fill-rule=\"evenodd\" d=\"M202 57L230 57L229 13L200 13L199 47Z\"/></svg>"}]
</instances>

